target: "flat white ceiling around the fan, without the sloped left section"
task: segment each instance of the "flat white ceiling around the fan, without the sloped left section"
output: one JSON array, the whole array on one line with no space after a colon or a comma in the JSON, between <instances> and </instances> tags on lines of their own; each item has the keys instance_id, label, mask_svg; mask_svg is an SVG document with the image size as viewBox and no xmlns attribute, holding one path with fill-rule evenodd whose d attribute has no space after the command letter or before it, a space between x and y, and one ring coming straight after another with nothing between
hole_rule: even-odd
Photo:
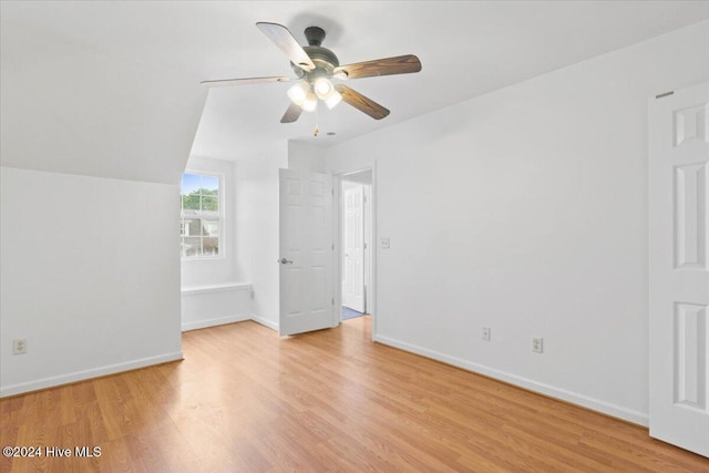
<instances>
[{"instance_id":1,"label":"flat white ceiling around the fan, without the sloped left section","mask_svg":"<svg viewBox=\"0 0 709 473\"><path fill-rule=\"evenodd\" d=\"M306 27L323 28L322 45L341 64L420 58L418 74L348 82L391 110L382 121L342 103L280 124L287 83L210 90L192 153L233 160L282 150L288 140L349 140L707 19L705 1L3 1L1 21L3 43L32 34L63 38L167 71L161 76L166 88L169 78L189 81L192 99L205 93L202 80L292 75L257 21L288 27L301 43ZM6 51L2 65L10 68ZM24 48L24 55L32 53Z\"/></svg>"}]
</instances>

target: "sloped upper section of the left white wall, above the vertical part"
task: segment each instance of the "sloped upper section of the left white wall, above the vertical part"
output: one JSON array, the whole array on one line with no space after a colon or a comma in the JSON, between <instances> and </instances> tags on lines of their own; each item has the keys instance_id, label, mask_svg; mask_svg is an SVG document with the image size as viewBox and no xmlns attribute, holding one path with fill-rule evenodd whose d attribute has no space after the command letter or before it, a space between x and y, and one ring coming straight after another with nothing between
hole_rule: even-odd
<instances>
[{"instance_id":1,"label":"sloped upper section of the left white wall, above the vertical part","mask_svg":"<svg viewBox=\"0 0 709 473\"><path fill-rule=\"evenodd\" d=\"M6 28L3 166L179 182L207 94L199 78L30 27Z\"/></svg>"}]
</instances>

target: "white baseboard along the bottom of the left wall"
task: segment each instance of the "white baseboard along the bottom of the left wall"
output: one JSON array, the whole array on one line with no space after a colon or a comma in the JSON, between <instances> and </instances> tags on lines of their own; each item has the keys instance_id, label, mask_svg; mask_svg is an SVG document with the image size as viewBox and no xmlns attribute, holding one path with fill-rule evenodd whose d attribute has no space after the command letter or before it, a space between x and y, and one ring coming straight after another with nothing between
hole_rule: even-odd
<instances>
[{"instance_id":1,"label":"white baseboard along the bottom of the left wall","mask_svg":"<svg viewBox=\"0 0 709 473\"><path fill-rule=\"evenodd\" d=\"M78 381L85 381L92 378L100 378L109 374L120 373L122 371L135 370L138 368L146 368L154 364L166 363L168 361L182 360L182 351L174 353L161 354L157 357L142 358L140 360L126 361L124 363L107 364L105 367L93 368L84 371L74 371L72 373L60 374L56 377L44 378L30 382L22 382L19 384L11 384L0 388L0 398L8 395L22 394L30 391L37 391L40 389L54 388L62 384L69 384Z\"/></svg>"}]
</instances>

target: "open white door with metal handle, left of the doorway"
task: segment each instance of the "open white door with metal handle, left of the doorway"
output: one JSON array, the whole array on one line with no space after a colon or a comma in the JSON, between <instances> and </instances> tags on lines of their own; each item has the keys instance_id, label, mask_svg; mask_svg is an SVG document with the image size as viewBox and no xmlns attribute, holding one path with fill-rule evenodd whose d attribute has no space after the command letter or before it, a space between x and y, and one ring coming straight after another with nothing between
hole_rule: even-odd
<instances>
[{"instance_id":1,"label":"open white door with metal handle, left of the doorway","mask_svg":"<svg viewBox=\"0 0 709 473\"><path fill-rule=\"evenodd\" d=\"M279 169L281 336L333 327L332 177Z\"/></svg>"}]
</instances>

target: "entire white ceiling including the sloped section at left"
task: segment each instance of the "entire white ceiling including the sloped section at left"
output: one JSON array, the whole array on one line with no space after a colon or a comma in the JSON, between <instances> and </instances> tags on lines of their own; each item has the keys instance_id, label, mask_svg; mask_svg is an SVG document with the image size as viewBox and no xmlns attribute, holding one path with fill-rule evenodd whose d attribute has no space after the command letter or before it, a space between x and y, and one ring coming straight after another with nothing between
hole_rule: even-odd
<instances>
[{"instance_id":1,"label":"entire white ceiling including the sloped section at left","mask_svg":"<svg viewBox=\"0 0 709 473\"><path fill-rule=\"evenodd\" d=\"M1 3L6 165L176 182L192 153L237 160L288 140L329 145L709 19L702 1L101 1ZM417 74L348 85L391 110L341 103L279 120L294 75L256 27L326 30L341 63L417 54ZM315 125L320 134L312 134ZM328 135L328 133L335 133Z\"/></svg>"}]
</instances>

